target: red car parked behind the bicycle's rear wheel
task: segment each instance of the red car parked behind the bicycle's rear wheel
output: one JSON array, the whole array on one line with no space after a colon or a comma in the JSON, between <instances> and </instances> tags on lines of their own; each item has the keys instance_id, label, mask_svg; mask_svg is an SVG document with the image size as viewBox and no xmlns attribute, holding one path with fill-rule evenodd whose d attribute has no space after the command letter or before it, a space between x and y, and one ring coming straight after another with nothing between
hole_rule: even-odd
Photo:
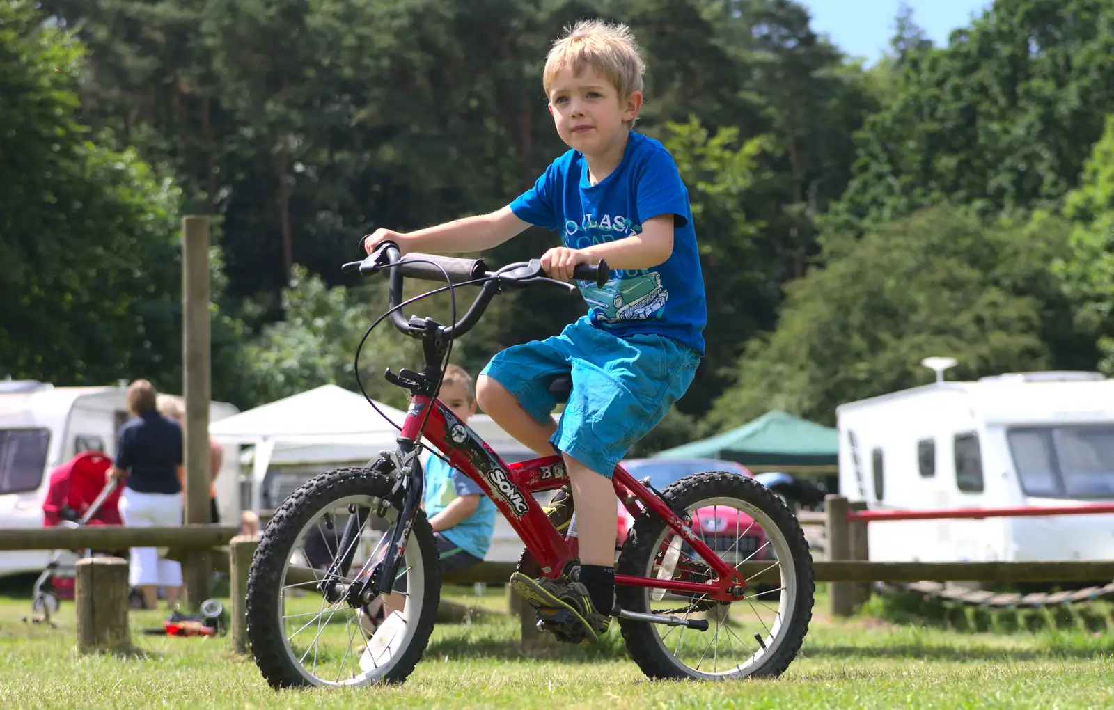
<instances>
[{"instance_id":1,"label":"red car parked behind the bicycle's rear wheel","mask_svg":"<svg viewBox=\"0 0 1114 710\"><path fill-rule=\"evenodd\" d=\"M658 491L664 491L674 481L704 471L727 471L754 477L745 466L719 458L631 458L624 461L623 466L639 481L649 476L649 484ZM634 520L622 503L618 506L617 543L623 544ZM774 559L773 550L765 544L765 531L736 509L702 507L693 514L693 527L701 531L705 544L721 553L729 564L737 564L747 559ZM683 551L692 554L688 545Z\"/></svg>"}]
</instances>

